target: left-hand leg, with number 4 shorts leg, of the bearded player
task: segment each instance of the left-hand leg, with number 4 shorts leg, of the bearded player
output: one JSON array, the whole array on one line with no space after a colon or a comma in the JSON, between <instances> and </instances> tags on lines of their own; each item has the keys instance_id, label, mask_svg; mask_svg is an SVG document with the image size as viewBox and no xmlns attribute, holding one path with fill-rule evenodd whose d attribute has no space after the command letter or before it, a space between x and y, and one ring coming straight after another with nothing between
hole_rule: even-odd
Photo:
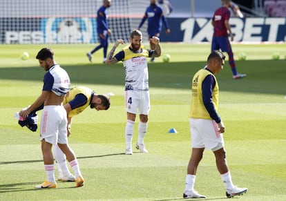
<instances>
[{"instance_id":1,"label":"left-hand leg, with number 4 shorts leg, of the bearded player","mask_svg":"<svg viewBox=\"0 0 286 201\"><path fill-rule=\"evenodd\" d=\"M134 132L135 117L138 106L137 94L133 90L125 91L125 106L127 112L127 122L125 126L126 155L132 155L132 139Z\"/></svg>"}]
</instances>

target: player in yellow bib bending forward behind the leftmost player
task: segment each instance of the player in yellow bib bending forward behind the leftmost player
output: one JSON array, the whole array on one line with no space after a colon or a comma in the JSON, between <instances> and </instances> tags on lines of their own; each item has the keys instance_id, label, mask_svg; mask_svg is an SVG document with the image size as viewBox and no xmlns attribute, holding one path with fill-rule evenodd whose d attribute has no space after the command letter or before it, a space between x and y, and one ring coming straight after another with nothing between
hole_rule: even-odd
<instances>
[{"instance_id":1,"label":"player in yellow bib bending forward behind the leftmost player","mask_svg":"<svg viewBox=\"0 0 286 201\"><path fill-rule=\"evenodd\" d=\"M92 89L85 86L74 86L64 98L64 108L68 116L68 136L71 133L72 118L82 113L87 107L95 108L97 111L108 110L110 100L106 95L97 95ZM66 155L54 146L55 161L59 171L58 180L63 182L73 182L75 177L68 170Z\"/></svg>"}]
</instances>

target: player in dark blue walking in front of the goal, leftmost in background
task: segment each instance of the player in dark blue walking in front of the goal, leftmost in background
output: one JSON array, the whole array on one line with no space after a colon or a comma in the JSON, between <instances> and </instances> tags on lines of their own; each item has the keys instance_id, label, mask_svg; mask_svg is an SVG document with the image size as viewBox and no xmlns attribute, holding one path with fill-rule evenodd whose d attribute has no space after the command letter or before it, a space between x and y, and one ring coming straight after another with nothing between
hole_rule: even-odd
<instances>
[{"instance_id":1,"label":"player in dark blue walking in front of the goal, leftmost in background","mask_svg":"<svg viewBox=\"0 0 286 201\"><path fill-rule=\"evenodd\" d=\"M106 61L108 36L111 35L111 30L108 28L106 8L111 7L111 0L104 0L103 2L103 5L97 10L97 35L99 35L100 44L86 53L90 62L93 61L93 53L100 48L104 48L104 62Z\"/></svg>"}]
</instances>

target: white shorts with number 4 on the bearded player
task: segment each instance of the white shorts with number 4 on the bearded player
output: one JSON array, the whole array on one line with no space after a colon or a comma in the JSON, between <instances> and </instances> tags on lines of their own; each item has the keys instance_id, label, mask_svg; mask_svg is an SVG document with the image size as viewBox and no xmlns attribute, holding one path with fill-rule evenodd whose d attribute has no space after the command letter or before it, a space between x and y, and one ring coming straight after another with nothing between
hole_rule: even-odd
<instances>
[{"instance_id":1,"label":"white shorts with number 4 on the bearded player","mask_svg":"<svg viewBox=\"0 0 286 201\"><path fill-rule=\"evenodd\" d=\"M148 115L150 111L149 90L126 90L125 91L125 106L128 113L137 113L140 115Z\"/></svg>"}]
</instances>

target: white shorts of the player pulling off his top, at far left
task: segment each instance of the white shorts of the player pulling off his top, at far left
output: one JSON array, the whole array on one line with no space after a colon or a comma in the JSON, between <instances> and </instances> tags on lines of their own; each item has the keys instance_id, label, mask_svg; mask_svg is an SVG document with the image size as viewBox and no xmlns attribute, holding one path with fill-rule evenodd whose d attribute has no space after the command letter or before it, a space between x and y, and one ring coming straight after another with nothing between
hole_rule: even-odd
<instances>
[{"instance_id":1,"label":"white shorts of the player pulling off his top, at far left","mask_svg":"<svg viewBox=\"0 0 286 201\"><path fill-rule=\"evenodd\" d=\"M44 106L41 114L40 140L50 144L68 144L68 119L64 106Z\"/></svg>"}]
</instances>

